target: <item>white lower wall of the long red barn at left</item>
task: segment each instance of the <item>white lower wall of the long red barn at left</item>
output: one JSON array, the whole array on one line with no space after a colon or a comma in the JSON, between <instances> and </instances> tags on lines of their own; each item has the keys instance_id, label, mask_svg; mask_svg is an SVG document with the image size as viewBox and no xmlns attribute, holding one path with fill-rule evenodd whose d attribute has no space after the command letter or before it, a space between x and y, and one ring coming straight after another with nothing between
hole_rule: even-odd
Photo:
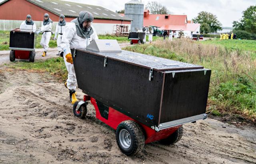
<instances>
[{"instance_id":1,"label":"white lower wall of the long red barn at left","mask_svg":"<svg viewBox=\"0 0 256 164\"><path fill-rule=\"evenodd\" d=\"M24 20L0 20L0 30L10 31L15 28L20 28L20 24ZM36 28L38 29L42 25L42 21L34 21L36 23ZM53 22L52 32L55 32L56 24L58 22ZM92 24L97 32L98 35L106 35L106 34L113 34L114 26L117 24L103 24L103 23L93 23ZM121 24L118 24L121 25ZM122 24L128 26L129 30L131 29L130 24Z\"/></svg>"}]
</instances>

